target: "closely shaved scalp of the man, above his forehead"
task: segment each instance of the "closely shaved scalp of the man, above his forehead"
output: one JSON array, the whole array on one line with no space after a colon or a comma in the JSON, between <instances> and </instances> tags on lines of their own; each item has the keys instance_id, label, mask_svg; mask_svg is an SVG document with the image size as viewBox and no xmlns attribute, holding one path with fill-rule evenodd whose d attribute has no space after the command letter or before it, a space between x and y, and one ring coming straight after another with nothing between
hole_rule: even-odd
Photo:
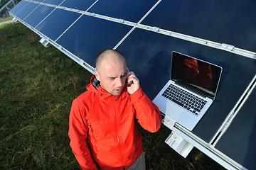
<instances>
[{"instance_id":1,"label":"closely shaved scalp of the man, above his forehead","mask_svg":"<svg viewBox=\"0 0 256 170\"><path fill-rule=\"evenodd\" d=\"M121 52L117 50L105 50L97 57L96 60L96 69L97 72L100 72L102 69L102 64L105 62L110 62L112 64L120 64L124 63L126 65L126 61Z\"/></svg>"}]
</instances>

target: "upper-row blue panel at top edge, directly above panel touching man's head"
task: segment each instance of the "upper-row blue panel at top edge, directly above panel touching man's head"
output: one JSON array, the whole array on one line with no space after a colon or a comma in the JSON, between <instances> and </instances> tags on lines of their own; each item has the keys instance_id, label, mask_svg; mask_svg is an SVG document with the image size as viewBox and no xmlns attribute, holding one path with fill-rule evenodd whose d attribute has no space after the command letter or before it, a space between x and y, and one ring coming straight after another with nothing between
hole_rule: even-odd
<instances>
[{"instance_id":1,"label":"upper-row blue panel at top edge, directly above panel touching man's head","mask_svg":"<svg viewBox=\"0 0 256 170\"><path fill-rule=\"evenodd\" d=\"M99 0L88 12L137 23L157 0Z\"/></svg>"}]
</instances>

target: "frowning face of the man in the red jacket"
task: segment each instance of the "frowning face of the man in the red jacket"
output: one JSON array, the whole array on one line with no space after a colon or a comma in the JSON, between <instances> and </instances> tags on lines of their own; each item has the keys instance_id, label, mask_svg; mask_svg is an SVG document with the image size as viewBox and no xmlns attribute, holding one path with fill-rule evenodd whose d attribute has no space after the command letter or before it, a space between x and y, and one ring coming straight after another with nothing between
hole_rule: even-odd
<instances>
[{"instance_id":1,"label":"frowning face of the man in the red jacket","mask_svg":"<svg viewBox=\"0 0 256 170\"><path fill-rule=\"evenodd\" d=\"M113 96L118 96L122 93L127 79L127 65L125 62L117 61L110 62L102 61L99 72L95 71L100 85Z\"/></svg>"}]
</instances>

